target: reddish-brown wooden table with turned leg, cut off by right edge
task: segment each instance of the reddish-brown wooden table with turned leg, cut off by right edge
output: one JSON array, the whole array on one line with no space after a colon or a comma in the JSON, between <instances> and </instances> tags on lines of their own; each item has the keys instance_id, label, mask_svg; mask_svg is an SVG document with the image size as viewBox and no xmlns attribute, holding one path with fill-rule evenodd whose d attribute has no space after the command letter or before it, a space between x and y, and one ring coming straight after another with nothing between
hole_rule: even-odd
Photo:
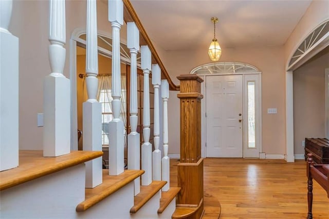
<instances>
[{"instance_id":1,"label":"reddish-brown wooden table with turned leg, cut off by right edge","mask_svg":"<svg viewBox=\"0 0 329 219\"><path fill-rule=\"evenodd\" d=\"M327 192L329 198L329 165L315 165L313 155L307 154L307 219L312 219L312 203L313 203L313 179Z\"/></svg>"}]
</instances>

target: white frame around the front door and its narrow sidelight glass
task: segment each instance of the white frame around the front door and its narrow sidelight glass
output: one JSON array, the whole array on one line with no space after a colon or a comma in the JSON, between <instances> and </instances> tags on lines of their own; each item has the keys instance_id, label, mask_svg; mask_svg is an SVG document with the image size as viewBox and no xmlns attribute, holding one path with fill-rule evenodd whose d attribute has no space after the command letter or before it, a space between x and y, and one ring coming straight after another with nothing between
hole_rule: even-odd
<instances>
[{"instance_id":1,"label":"white frame around the front door and its narrow sidelight glass","mask_svg":"<svg viewBox=\"0 0 329 219\"><path fill-rule=\"evenodd\" d=\"M256 123L257 127L255 127L255 143L258 145L259 153L258 156L252 157L252 158L259 158L260 153L263 152L262 148L262 72L257 71L257 72L239 72L237 73L232 73L232 72L223 72L220 74L205 74L205 75L199 75L199 77L204 79L204 83L202 83L201 86L201 92L204 95L204 98L201 101L201 125L202 125L202 132L201 132L201 155L202 157L206 157L206 132L207 132L207 124L206 124L206 81L207 77L210 76L224 76L224 75L242 75L242 107L243 107L243 118L245 115L245 112L248 112L248 106L245 101L245 84L250 81L249 79L251 78L257 78L257 82L255 85L255 118L256 118ZM257 94L256 94L257 93ZM243 158L250 158L250 156L245 156L247 147L247 140L245 135L245 127L248 125L248 121L246 119L243 119L243 142L242 142L242 147L243 147Z\"/></svg>"}]
</instances>

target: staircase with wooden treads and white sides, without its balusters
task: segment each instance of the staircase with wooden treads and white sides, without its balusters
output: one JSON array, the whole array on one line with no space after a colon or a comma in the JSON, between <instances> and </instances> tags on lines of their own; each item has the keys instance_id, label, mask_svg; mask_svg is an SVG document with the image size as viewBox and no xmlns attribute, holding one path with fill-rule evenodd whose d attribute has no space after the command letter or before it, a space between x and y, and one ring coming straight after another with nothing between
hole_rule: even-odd
<instances>
[{"instance_id":1,"label":"staircase with wooden treads and white sides, without its balusters","mask_svg":"<svg viewBox=\"0 0 329 219\"><path fill-rule=\"evenodd\" d=\"M143 170L126 170L116 176L103 170L103 184L84 189L84 162L101 155L102 152L75 151L43 157L42 151L21 151L19 168L0 172L2 217L171 218L180 188L161 192L167 182L153 181L141 186L140 193L134 196L134 179ZM54 184L46 183L49 180ZM22 205L20 211L17 205Z\"/></svg>"}]
</instances>

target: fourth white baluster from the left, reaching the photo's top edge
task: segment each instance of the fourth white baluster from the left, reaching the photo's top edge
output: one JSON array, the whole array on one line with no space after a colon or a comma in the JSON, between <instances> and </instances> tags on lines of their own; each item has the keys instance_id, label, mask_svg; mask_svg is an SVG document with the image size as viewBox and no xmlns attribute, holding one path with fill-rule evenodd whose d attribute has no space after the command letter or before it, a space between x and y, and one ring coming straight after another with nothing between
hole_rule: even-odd
<instances>
[{"instance_id":1,"label":"fourth white baluster from the left, reaching the photo's top edge","mask_svg":"<svg viewBox=\"0 0 329 219\"><path fill-rule=\"evenodd\" d=\"M119 175L124 171L124 135L123 121L120 119L121 108L121 71L120 71L120 28L123 25L123 2L108 1L108 21L112 26L112 113L109 122L109 175Z\"/></svg>"}]
</instances>

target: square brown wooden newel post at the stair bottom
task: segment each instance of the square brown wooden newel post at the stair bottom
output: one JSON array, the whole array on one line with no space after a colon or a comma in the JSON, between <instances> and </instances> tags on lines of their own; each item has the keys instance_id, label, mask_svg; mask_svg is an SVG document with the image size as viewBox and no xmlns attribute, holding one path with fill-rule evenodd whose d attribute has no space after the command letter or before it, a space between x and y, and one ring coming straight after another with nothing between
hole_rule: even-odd
<instances>
[{"instance_id":1,"label":"square brown wooden newel post at the stair bottom","mask_svg":"<svg viewBox=\"0 0 329 219\"><path fill-rule=\"evenodd\" d=\"M181 75L180 80L180 163L178 164L177 206L193 206L188 218L200 218L204 211L204 163L201 158L201 82L196 75Z\"/></svg>"}]
</instances>

